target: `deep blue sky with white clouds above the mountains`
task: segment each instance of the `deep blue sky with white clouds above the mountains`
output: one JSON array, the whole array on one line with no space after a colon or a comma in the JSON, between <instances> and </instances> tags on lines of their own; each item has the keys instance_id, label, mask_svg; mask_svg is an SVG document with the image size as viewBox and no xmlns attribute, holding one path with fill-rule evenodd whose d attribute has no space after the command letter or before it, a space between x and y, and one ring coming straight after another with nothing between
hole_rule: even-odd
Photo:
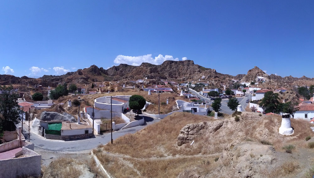
<instances>
[{"instance_id":1,"label":"deep blue sky with white clouds above the mountains","mask_svg":"<svg viewBox=\"0 0 314 178\"><path fill-rule=\"evenodd\" d=\"M1 1L0 74L193 60L314 77L314 1Z\"/></svg>"}]
</instances>

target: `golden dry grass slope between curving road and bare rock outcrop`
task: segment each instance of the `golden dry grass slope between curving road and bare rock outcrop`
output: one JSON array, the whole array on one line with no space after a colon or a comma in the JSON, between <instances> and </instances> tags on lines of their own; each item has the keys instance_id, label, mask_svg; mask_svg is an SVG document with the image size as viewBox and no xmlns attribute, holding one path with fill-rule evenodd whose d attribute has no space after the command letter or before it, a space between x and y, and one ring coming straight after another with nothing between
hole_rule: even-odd
<instances>
[{"instance_id":1,"label":"golden dry grass slope between curving road and bare rock outcrop","mask_svg":"<svg viewBox=\"0 0 314 178\"><path fill-rule=\"evenodd\" d=\"M158 123L147 126L141 132L127 134L116 139L114 144L104 145L104 149L108 152L126 154L135 158L198 154L201 152L201 144L193 149L178 149L175 145L182 127L189 123L203 121L214 121L214 119L190 113L174 113ZM161 147L161 149L157 149L157 147ZM141 150L141 154L138 154L138 150Z\"/></svg>"}]
</instances>

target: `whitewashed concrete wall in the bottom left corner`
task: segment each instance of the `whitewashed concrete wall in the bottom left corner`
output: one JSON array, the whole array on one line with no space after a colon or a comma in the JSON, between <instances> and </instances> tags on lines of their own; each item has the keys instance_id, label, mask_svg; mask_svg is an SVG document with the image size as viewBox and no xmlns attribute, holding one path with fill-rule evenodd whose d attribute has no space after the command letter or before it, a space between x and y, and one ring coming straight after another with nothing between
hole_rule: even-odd
<instances>
[{"instance_id":1,"label":"whitewashed concrete wall in the bottom left corner","mask_svg":"<svg viewBox=\"0 0 314 178\"><path fill-rule=\"evenodd\" d=\"M26 157L0 160L1 177L16 178L41 174L41 155L27 148L22 148L22 152Z\"/></svg>"}]
</instances>

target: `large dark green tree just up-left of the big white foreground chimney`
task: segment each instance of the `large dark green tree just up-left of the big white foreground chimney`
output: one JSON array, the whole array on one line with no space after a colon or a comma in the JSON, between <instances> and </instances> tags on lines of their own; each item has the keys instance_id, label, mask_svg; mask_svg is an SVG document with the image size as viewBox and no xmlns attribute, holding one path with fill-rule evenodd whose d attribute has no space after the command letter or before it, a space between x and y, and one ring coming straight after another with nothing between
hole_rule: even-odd
<instances>
[{"instance_id":1,"label":"large dark green tree just up-left of the big white foreground chimney","mask_svg":"<svg viewBox=\"0 0 314 178\"><path fill-rule=\"evenodd\" d=\"M263 107L266 113L279 113L279 94L272 91L266 92L263 99L260 102L260 106Z\"/></svg>"}]
</instances>

